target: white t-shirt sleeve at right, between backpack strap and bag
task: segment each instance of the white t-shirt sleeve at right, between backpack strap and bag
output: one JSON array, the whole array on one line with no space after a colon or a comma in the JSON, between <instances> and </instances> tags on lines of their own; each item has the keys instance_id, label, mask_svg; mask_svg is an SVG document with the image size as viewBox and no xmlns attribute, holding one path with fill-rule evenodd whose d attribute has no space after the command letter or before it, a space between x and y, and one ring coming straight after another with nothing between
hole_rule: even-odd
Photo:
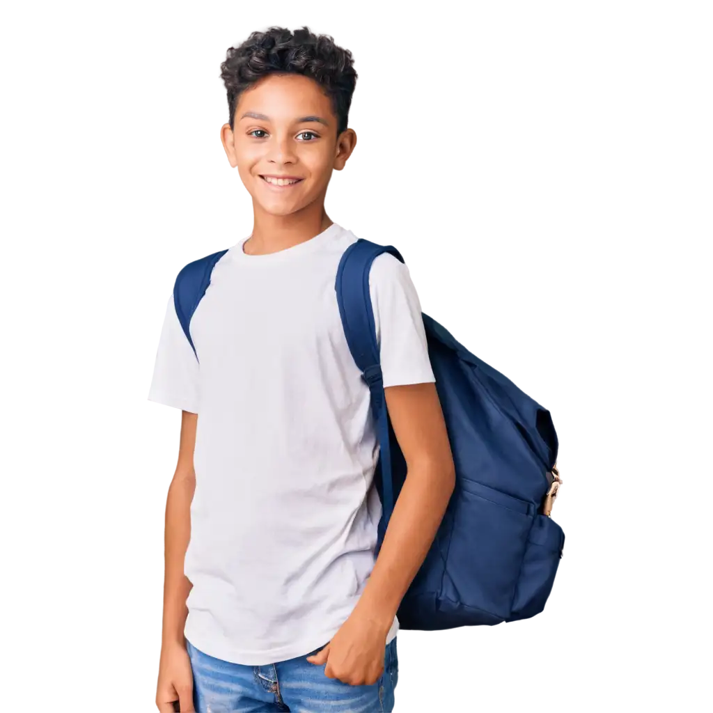
<instances>
[{"instance_id":1,"label":"white t-shirt sleeve at right, between backpack strap and bag","mask_svg":"<svg viewBox=\"0 0 713 713\"><path fill-rule=\"evenodd\" d=\"M369 292L384 387L436 381L409 265L388 253L379 255L369 272Z\"/></svg>"}]
</instances>

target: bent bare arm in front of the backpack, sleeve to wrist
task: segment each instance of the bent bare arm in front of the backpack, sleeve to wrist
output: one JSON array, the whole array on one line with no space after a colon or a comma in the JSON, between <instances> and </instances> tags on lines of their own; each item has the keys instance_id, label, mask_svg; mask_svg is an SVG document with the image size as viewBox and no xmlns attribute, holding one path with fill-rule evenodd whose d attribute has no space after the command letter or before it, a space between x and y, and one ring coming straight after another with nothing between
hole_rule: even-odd
<instances>
[{"instance_id":1,"label":"bent bare arm in front of the backpack, sleeve to wrist","mask_svg":"<svg viewBox=\"0 0 713 713\"><path fill-rule=\"evenodd\" d=\"M386 635L433 543L456 476L436 385L391 386L384 393L407 475L358 607Z\"/></svg>"}]
</instances>

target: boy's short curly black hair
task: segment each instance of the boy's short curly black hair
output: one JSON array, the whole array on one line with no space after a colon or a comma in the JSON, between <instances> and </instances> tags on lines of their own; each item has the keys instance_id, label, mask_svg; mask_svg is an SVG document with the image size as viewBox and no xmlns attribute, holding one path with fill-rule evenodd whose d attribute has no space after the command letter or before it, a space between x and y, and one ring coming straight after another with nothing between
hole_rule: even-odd
<instances>
[{"instance_id":1,"label":"boy's short curly black hair","mask_svg":"<svg viewBox=\"0 0 713 713\"><path fill-rule=\"evenodd\" d=\"M223 45L218 56L218 88L223 95L223 120L230 128L234 128L240 94L272 73L314 79L332 100L337 135L351 124L356 73L349 52L327 36L287 24L256 26Z\"/></svg>"}]
</instances>

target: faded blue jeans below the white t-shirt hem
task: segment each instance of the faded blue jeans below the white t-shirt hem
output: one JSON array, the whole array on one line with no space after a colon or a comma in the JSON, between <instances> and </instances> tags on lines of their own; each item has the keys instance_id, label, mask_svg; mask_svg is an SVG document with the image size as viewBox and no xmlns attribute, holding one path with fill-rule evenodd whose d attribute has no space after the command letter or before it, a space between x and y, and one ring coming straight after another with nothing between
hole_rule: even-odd
<instances>
[{"instance_id":1,"label":"faded blue jeans below the white t-shirt hem","mask_svg":"<svg viewBox=\"0 0 713 713\"><path fill-rule=\"evenodd\" d=\"M386 647L384 674L372 686L349 686L307 661L310 652L267 666L214 659L187 642L196 713L393 713L398 638Z\"/></svg>"}]
</instances>

